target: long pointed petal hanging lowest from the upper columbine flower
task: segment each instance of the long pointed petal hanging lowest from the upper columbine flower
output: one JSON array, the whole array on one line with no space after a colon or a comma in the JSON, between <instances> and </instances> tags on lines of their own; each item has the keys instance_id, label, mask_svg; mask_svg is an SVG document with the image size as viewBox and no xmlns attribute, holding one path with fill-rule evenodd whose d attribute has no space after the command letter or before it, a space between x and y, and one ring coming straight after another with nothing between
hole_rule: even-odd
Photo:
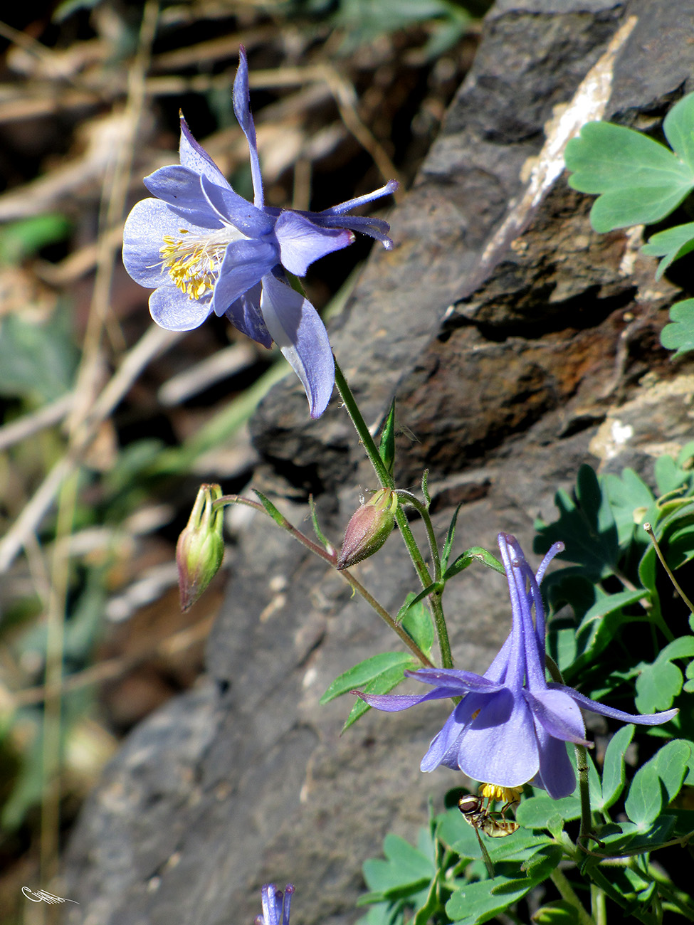
<instances>
[{"instance_id":1,"label":"long pointed petal hanging lowest from the upper columbine flower","mask_svg":"<svg viewBox=\"0 0 694 925\"><path fill-rule=\"evenodd\" d=\"M319 417L335 385L335 363L320 316L308 299L271 273L263 277L260 310L271 338L302 381L311 417Z\"/></svg>"}]
</instances>

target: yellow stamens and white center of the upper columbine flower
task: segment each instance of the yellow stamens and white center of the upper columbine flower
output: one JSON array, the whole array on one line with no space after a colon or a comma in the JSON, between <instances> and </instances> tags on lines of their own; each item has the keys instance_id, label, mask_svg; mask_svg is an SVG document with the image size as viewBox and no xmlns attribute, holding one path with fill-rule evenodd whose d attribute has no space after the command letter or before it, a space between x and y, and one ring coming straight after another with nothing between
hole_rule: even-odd
<instances>
[{"instance_id":1,"label":"yellow stamens and white center of the upper columbine flower","mask_svg":"<svg viewBox=\"0 0 694 925\"><path fill-rule=\"evenodd\" d=\"M162 271L168 271L171 282L189 299L202 299L205 292L215 288L227 245L246 236L229 226L204 237L192 235L188 228L179 228L179 234L182 237L165 234L162 239L164 243L159 248Z\"/></svg>"}]
</instances>

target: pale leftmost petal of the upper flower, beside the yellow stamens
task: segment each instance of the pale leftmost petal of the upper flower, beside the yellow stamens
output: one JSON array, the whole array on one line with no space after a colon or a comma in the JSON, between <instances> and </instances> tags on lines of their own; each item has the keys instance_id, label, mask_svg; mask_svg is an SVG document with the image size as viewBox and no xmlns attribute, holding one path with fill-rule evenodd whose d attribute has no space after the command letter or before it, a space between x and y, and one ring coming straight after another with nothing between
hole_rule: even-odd
<instances>
[{"instance_id":1,"label":"pale leftmost petal of the upper flower, beside the yellow stamens","mask_svg":"<svg viewBox=\"0 0 694 925\"><path fill-rule=\"evenodd\" d=\"M182 219L160 199L135 203L123 228L123 265L135 282L150 289L169 282L159 249L164 235L180 238L181 228L191 234L209 234L209 228Z\"/></svg>"}]
</instances>

